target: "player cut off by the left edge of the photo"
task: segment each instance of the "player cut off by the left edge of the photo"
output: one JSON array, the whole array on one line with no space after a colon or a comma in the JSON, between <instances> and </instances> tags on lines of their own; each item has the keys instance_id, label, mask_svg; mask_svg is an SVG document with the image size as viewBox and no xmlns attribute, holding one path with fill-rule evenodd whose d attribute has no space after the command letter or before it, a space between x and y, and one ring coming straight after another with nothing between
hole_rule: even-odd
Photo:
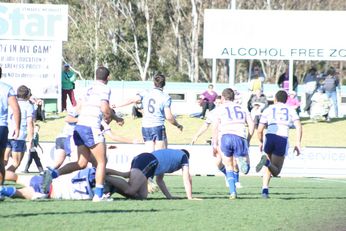
<instances>
[{"instance_id":1,"label":"player cut off by the left edge of the photo","mask_svg":"<svg viewBox=\"0 0 346 231\"><path fill-rule=\"evenodd\" d=\"M0 79L2 69L0 67ZM8 109L11 108L13 115L13 133L8 133ZM11 139L17 139L20 129L20 108L17 102L16 93L10 85L0 81L0 188L5 180L4 154L7 145L8 135ZM1 197L0 197L1 199Z\"/></svg>"}]
</instances>

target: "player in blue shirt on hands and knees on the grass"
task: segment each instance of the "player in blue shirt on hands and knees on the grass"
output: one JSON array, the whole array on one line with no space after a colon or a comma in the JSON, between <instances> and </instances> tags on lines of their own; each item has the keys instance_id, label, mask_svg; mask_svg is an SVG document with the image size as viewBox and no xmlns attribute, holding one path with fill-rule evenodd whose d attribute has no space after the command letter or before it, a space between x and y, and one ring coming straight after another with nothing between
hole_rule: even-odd
<instances>
[{"instance_id":1,"label":"player in blue shirt on hands and knees on the grass","mask_svg":"<svg viewBox=\"0 0 346 231\"><path fill-rule=\"evenodd\" d=\"M141 153L132 160L129 172L107 170L106 181L127 198L146 199L148 178L156 176L156 183L162 193L167 199L173 199L163 180L164 174L182 169L186 196L191 200L193 198L189 157L189 152L184 149L161 149L152 153ZM117 176L128 178L128 181Z\"/></svg>"}]
</instances>

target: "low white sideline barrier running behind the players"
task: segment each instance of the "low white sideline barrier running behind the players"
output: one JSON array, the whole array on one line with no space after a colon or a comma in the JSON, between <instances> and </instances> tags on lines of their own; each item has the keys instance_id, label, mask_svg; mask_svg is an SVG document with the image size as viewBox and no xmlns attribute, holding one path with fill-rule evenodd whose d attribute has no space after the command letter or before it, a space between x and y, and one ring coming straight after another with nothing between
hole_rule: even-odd
<instances>
[{"instance_id":1,"label":"low white sideline barrier running behind the players","mask_svg":"<svg viewBox=\"0 0 346 231\"><path fill-rule=\"evenodd\" d=\"M52 166L54 156L54 143L40 143L44 154L40 154L41 162L44 167ZM120 171L127 171L134 156L144 152L143 144L114 144L116 149L107 149L107 167L115 168ZM215 165L215 158L212 156L212 147L209 145L169 145L169 148L184 148L190 152L190 171L191 175L221 175ZM250 147L250 176L261 176L256 173L255 166L261 154L257 146ZM19 172L23 171L27 161L26 154L19 167ZM76 154L70 160L76 160ZM37 171L33 162L29 171ZM178 171L175 174L180 174ZM292 148L285 159L284 167L280 176L287 177L342 177L346 178L346 148L325 148L325 147L305 147L301 156L295 156Z\"/></svg>"}]
</instances>

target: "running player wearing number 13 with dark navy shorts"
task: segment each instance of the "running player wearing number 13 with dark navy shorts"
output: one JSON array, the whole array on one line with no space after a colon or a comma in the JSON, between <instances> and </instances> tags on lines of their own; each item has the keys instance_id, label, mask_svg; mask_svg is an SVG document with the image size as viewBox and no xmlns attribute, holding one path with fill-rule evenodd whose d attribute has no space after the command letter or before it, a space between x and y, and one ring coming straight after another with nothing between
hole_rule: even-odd
<instances>
[{"instance_id":1,"label":"running player wearing number 13 with dark navy shorts","mask_svg":"<svg viewBox=\"0 0 346 231\"><path fill-rule=\"evenodd\" d=\"M281 172L285 156L287 155L288 132L289 127L293 123L296 128L296 146L294 150L297 155L300 154L302 125L297 112L288 106L287 92L279 90L275 94L274 104L270 105L263 111L259 126L258 139L260 141L260 150L266 155L262 155L260 162L256 166L256 171L259 172L263 166L266 166L263 175L262 197L269 198L269 182L271 175L278 176ZM265 139L263 137L264 128L267 127ZM263 140L264 146L263 146Z\"/></svg>"}]
</instances>

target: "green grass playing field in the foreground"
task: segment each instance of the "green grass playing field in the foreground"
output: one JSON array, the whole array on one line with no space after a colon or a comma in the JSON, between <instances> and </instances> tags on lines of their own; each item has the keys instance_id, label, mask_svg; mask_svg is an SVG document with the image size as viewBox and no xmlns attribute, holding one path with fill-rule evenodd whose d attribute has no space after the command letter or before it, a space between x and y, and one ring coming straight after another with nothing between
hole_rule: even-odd
<instances>
[{"instance_id":1,"label":"green grass playing field in the foreground","mask_svg":"<svg viewBox=\"0 0 346 231\"><path fill-rule=\"evenodd\" d=\"M180 176L167 176L184 197ZM260 196L261 178L241 177L239 199L228 200L223 177L193 177L201 201L24 201L0 203L1 230L346 230L346 180L274 178L271 198Z\"/></svg>"}]
</instances>

